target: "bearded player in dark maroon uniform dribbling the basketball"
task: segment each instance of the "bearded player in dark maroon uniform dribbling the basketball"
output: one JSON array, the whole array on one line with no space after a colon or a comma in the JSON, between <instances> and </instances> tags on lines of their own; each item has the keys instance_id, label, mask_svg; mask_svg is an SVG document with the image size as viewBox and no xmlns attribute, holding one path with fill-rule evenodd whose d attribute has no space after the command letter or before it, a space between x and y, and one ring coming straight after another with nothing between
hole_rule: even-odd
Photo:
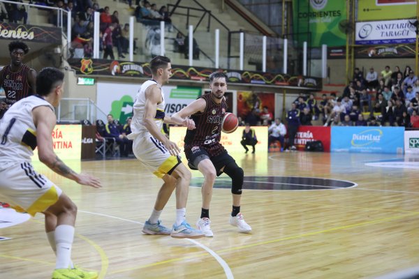
<instances>
[{"instance_id":1,"label":"bearded player in dark maroon uniform dribbling the basketball","mask_svg":"<svg viewBox=\"0 0 419 279\"><path fill-rule=\"evenodd\" d=\"M190 105L177 112L175 116L183 119L191 116L195 130L187 130L185 136L185 154L191 169L198 169L204 175L202 188L203 207L197 227L205 236L214 236L210 224L210 202L216 176L225 172L232 179L233 211L230 225L238 227L239 232L250 232L251 227L240 213L240 199L244 173L220 144L221 121L226 114L227 104L224 93L227 90L227 77L223 73L210 75L211 93L201 96Z\"/></svg>"}]
</instances>

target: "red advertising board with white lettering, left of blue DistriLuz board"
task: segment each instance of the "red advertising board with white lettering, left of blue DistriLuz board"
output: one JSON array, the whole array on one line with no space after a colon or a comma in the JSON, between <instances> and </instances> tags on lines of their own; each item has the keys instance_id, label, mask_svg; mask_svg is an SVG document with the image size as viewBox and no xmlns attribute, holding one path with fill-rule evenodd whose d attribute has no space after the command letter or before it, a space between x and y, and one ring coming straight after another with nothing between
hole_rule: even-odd
<instances>
[{"instance_id":1,"label":"red advertising board with white lettering, left of blue DistriLuz board","mask_svg":"<svg viewBox=\"0 0 419 279\"><path fill-rule=\"evenodd\" d=\"M323 126L300 126L295 135L294 145L298 150L304 150L307 142L320 140L325 152L330 152L330 127Z\"/></svg>"}]
</instances>

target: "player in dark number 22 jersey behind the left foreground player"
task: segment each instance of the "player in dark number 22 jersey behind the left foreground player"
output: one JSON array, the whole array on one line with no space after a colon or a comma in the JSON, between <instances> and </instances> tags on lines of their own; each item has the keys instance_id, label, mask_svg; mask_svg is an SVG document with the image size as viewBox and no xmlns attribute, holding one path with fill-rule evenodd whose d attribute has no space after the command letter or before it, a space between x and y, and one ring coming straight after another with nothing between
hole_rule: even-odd
<instances>
[{"instance_id":1,"label":"player in dark number 22 jersey behind the left foreground player","mask_svg":"<svg viewBox=\"0 0 419 279\"><path fill-rule=\"evenodd\" d=\"M22 42L13 41L9 45L9 65L0 70L0 85L6 93L8 107L18 100L36 93L36 70L29 68L22 60L29 47Z\"/></svg>"}]
</instances>

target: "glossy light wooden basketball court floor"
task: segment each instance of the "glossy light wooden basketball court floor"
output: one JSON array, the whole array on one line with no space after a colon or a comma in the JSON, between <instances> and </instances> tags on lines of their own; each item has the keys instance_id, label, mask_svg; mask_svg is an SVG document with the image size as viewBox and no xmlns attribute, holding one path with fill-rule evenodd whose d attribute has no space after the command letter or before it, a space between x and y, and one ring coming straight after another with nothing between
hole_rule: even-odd
<instances>
[{"instance_id":1,"label":"glossy light wooden basketball court floor","mask_svg":"<svg viewBox=\"0 0 419 279\"><path fill-rule=\"evenodd\" d=\"M257 151L233 156L252 188L244 190L242 213L253 231L240 234L228 224L230 190L214 188L214 237L196 240L142 234L161 181L135 159L70 164L98 176L100 190L61 179L41 165L37 169L78 205L73 262L99 271L99 278L376 278L419 265L417 158ZM253 183L249 176L356 185L324 189L318 181L310 186L310 179L278 183L262 177ZM193 181L199 184L198 172ZM200 188L190 187L186 216L193 226L200 206ZM161 217L172 225L174 197ZM42 215L0 229L0 236L12 238L0 241L0 278L50 278L54 255Z\"/></svg>"}]
</instances>

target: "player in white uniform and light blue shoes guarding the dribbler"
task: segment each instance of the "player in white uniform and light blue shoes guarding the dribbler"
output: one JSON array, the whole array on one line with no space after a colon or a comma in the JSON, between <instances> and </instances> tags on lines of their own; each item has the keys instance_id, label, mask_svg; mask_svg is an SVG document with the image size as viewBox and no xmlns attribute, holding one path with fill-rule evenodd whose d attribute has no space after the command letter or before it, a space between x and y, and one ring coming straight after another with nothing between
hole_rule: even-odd
<instances>
[{"instance_id":1,"label":"player in white uniform and light blue shoes guarding the dribbler","mask_svg":"<svg viewBox=\"0 0 419 279\"><path fill-rule=\"evenodd\" d=\"M145 234L171 235L175 238L197 239L204 234L193 229L186 222L186 201L188 199L191 172L179 157L180 149L175 142L170 142L161 133L163 121L169 124L195 128L191 119L165 116L165 102L161 86L166 84L172 75L170 59L156 56L150 62L152 80L144 82L137 93L133 107L132 133L133 153L164 183L157 195L156 203L149 220L145 222L142 232ZM168 202L173 190L176 189L176 222L172 229L161 225L159 217Z\"/></svg>"}]
</instances>

